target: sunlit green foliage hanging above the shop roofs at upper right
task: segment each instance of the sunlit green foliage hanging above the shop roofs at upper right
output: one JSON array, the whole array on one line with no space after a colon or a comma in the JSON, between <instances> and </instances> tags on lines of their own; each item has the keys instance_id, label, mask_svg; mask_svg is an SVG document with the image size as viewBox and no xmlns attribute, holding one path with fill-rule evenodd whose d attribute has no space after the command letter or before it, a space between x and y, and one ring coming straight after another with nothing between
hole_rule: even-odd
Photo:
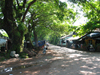
<instances>
[{"instance_id":1,"label":"sunlit green foliage hanging above the shop roofs at upper right","mask_svg":"<svg viewBox=\"0 0 100 75\"><path fill-rule=\"evenodd\" d=\"M88 18L88 22L85 25L79 26L78 34L83 35L87 32L91 32L96 28L100 28L100 1L99 0L69 0L73 3L78 3L82 6L84 16Z\"/></svg>"}]
</instances>

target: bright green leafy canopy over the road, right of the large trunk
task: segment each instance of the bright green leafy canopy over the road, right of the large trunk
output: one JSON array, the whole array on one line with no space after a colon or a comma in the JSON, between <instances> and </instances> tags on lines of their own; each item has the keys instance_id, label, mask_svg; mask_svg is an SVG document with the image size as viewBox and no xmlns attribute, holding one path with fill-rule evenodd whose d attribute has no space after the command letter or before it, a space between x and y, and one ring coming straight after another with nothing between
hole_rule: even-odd
<instances>
[{"instance_id":1,"label":"bright green leafy canopy over the road, right of the large trunk","mask_svg":"<svg viewBox=\"0 0 100 75\"><path fill-rule=\"evenodd\" d=\"M57 7L54 1L37 1L29 13L31 18L33 16L31 23L28 25L31 28L29 33L36 32L39 39L44 39L51 32L65 33L65 30L69 30L68 24L63 25L62 22L70 22L70 19L74 20L76 15L72 9L67 8L66 3L59 2ZM36 40L34 41L36 42Z\"/></svg>"}]
</instances>

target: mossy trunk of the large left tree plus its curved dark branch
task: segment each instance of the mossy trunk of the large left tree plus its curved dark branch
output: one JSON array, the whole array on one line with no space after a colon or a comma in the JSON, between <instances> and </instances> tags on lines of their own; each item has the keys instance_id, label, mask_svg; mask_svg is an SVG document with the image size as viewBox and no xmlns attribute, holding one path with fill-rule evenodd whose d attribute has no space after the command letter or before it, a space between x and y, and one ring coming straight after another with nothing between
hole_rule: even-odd
<instances>
[{"instance_id":1,"label":"mossy trunk of the large left tree plus its curved dark branch","mask_svg":"<svg viewBox=\"0 0 100 75\"><path fill-rule=\"evenodd\" d=\"M17 53L21 52L23 50L23 44L24 44L24 29L23 29L23 25L21 24L21 22L24 22L25 20L25 16L30 8L30 6L36 2L36 0L33 0L31 1L29 4L28 4L28 7L23 15L23 18L22 18L22 14L19 15L20 13L17 13L19 16L16 16L14 17L14 11L16 12L17 10L14 8L16 7L13 6L13 1L14 0L5 0L4 4L5 6L2 7L2 10L3 10L3 14L4 14L4 26L3 26L3 29L8 33L10 39L11 39L11 47L9 49L9 52L10 51L16 51ZM20 7L20 6L19 6ZM18 10L22 10L24 9L25 7L21 7L21 9L19 8ZM14 11L13 11L14 10ZM16 23L16 20L20 19L21 20L22 18L22 21L20 21L20 23ZM16 20L15 20L16 19ZM22 27L22 29L21 29Z\"/></svg>"}]
</instances>

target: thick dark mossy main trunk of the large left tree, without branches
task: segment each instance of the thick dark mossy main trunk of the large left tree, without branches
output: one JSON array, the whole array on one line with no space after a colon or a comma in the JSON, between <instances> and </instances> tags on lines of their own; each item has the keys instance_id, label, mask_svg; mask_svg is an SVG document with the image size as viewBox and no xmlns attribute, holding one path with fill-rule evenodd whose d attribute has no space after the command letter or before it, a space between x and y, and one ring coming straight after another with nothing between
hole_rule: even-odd
<instances>
[{"instance_id":1,"label":"thick dark mossy main trunk of the large left tree, without branches","mask_svg":"<svg viewBox=\"0 0 100 75\"><path fill-rule=\"evenodd\" d=\"M5 0L5 7L3 10L4 14L4 26L3 28L7 31L11 39L11 47L8 52L16 51L21 52L23 49L23 37L24 32L18 31L18 26L15 23L13 16L13 0Z\"/></svg>"}]
</instances>

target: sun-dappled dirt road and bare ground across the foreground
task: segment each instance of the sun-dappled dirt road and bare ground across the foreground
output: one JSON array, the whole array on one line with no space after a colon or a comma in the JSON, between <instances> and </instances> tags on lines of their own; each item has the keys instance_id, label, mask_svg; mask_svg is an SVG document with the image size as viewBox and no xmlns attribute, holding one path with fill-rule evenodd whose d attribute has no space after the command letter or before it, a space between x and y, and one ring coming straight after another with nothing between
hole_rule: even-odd
<instances>
[{"instance_id":1,"label":"sun-dappled dirt road and bare ground across the foreground","mask_svg":"<svg viewBox=\"0 0 100 75\"><path fill-rule=\"evenodd\" d=\"M0 75L100 75L100 53L50 45L46 55L0 62Z\"/></svg>"}]
</instances>

